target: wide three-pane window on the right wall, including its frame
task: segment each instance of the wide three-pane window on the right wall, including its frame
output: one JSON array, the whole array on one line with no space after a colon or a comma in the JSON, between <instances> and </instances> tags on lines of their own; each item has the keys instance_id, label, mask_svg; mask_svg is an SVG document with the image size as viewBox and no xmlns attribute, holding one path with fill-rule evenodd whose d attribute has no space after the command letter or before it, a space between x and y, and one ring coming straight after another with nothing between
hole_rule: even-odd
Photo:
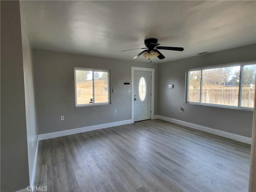
<instances>
[{"instance_id":1,"label":"wide three-pane window on the right wall, including its frame","mask_svg":"<svg viewBox=\"0 0 256 192\"><path fill-rule=\"evenodd\" d=\"M186 102L253 108L255 74L256 64L252 63L188 70Z\"/></svg>"}]
</instances>

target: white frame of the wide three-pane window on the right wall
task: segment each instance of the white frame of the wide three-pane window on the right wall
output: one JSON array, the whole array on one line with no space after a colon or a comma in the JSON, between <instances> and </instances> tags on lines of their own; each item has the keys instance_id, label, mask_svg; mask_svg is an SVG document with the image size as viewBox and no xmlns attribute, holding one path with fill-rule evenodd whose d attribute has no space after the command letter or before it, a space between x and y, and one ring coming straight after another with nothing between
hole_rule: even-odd
<instances>
[{"instance_id":1,"label":"white frame of the wide three-pane window on the right wall","mask_svg":"<svg viewBox=\"0 0 256 192\"><path fill-rule=\"evenodd\" d=\"M248 110L253 111L254 108L250 107L242 107L242 80L243 80L243 70L244 66L247 65L255 65L256 61L248 61L248 62L239 62L239 63L231 63L231 64L221 64L221 65L213 65L213 66L205 66L199 68L192 68L186 70L186 84L185 84L185 102L188 104L202 105L202 106L211 106L211 107L219 107L219 108L228 108L228 109L238 109L238 110ZM238 106L230 106L230 105L220 105L220 104L210 104L210 103L202 103L202 82L203 82L203 70L206 69L215 69L215 68L224 68L224 67L235 67L240 66L240 76L239 76L239 89L238 89ZM201 82L200 82L200 101L199 102L191 102L188 101L189 96L189 72L201 70ZM255 91L256 94L256 91Z\"/></svg>"}]
</instances>

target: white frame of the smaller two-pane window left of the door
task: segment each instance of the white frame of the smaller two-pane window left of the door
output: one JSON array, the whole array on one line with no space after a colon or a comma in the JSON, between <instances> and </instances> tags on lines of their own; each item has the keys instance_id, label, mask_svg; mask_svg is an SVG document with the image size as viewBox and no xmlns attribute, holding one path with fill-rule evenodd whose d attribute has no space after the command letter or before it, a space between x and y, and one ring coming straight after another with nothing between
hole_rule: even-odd
<instances>
[{"instance_id":1,"label":"white frame of the smaller two-pane window left of the door","mask_svg":"<svg viewBox=\"0 0 256 192\"><path fill-rule=\"evenodd\" d=\"M76 90L76 70L80 71L92 71L92 103L88 104L77 104L77 90ZM108 102L103 103L94 103L95 95L94 95L94 72L107 72L108 73ZM102 69L93 69L93 68L81 68L75 67L74 68L74 85L75 85L75 104L76 107L86 107L86 106L98 106L98 105L108 105L111 104L111 95L110 95L110 70L102 70Z\"/></svg>"}]
</instances>

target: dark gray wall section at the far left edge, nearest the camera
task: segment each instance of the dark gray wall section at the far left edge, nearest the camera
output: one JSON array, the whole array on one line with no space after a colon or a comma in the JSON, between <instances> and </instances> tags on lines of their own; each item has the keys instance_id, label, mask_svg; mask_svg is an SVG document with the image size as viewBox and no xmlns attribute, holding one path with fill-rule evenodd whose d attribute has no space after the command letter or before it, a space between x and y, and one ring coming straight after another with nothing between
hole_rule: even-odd
<instances>
[{"instance_id":1,"label":"dark gray wall section at the far left edge, nearest the camera","mask_svg":"<svg viewBox=\"0 0 256 192\"><path fill-rule=\"evenodd\" d=\"M1 1L1 191L29 185L20 2Z\"/></svg>"}]
</instances>

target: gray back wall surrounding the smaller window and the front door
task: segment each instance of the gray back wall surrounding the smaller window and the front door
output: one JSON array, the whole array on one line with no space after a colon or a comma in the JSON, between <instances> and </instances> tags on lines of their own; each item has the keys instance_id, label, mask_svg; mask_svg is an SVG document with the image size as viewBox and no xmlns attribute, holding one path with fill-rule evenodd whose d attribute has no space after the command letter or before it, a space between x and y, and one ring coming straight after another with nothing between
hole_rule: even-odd
<instances>
[{"instance_id":1,"label":"gray back wall surrounding the smaller window and the front door","mask_svg":"<svg viewBox=\"0 0 256 192\"><path fill-rule=\"evenodd\" d=\"M39 134L131 119L131 86L124 85L131 82L131 66L156 69L154 114L158 114L157 64L38 49L33 56ZM110 70L111 88L116 90L110 105L75 107L74 67Z\"/></svg>"}]
</instances>

